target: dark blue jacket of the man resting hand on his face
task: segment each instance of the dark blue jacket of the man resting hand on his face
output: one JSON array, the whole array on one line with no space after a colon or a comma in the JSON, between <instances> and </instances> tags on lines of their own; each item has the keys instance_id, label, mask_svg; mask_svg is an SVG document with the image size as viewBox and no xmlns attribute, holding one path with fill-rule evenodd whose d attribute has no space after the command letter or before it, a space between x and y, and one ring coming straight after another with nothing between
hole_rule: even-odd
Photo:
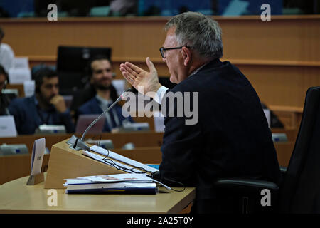
<instances>
[{"instance_id":1,"label":"dark blue jacket of the man resting hand on his face","mask_svg":"<svg viewBox=\"0 0 320 228\"><path fill-rule=\"evenodd\" d=\"M18 134L34 134L38 126L44 124L38 114L34 95L30 98L16 98L12 100L8 109L9 113L14 115ZM53 108L50 115L52 115L53 123L49 124L65 125L68 133L75 131L69 110L65 113L58 113Z\"/></svg>"}]
</instances>

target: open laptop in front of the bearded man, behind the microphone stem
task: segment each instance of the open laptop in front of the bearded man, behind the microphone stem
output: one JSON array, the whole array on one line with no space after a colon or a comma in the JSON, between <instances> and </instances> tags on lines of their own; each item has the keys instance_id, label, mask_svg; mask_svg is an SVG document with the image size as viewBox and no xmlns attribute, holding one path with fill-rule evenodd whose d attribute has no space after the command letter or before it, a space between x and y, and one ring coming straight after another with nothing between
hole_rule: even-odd
<instances>
[{"instance_id":1,"label":"open laptop in front of the bearded man, behind the microphone stem","mask_svg":"<svg viewBox=\"0 0 320 228\"><path fill-rule=\"evenodd\" d=\"M77 125L75 127L75 133L83 134L87 127L95 120L99 115L97 114L88 114L88 115L79 115ZM103 127L105 125L105 117L100 118L100 120L92 125L92 128L87 131L89 134L100 134L102 133Z\"/></svg>"}]
</instances>

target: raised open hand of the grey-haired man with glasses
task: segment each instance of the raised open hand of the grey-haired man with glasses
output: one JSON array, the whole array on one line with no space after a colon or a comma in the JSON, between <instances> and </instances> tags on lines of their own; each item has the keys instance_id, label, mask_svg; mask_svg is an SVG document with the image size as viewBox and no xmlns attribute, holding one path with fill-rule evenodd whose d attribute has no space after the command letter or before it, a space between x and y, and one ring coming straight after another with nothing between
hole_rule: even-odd
<instances>
[{"instance_id":1,"label":"raised open hand of the grey-haired man with glasses","mask_svg":"<svg viewBox=\"0 0 320 228\"><path fill-rule=\"evenodd\" d=\"M146 65L149 68L149 72L129 62L120 64L120 71L122 72L122 76L124 76L139 93L156 93L161 87L158 73L156 72L154 63L150 61L149 57L146 58Z\"/></svg>"}]
</instances>

